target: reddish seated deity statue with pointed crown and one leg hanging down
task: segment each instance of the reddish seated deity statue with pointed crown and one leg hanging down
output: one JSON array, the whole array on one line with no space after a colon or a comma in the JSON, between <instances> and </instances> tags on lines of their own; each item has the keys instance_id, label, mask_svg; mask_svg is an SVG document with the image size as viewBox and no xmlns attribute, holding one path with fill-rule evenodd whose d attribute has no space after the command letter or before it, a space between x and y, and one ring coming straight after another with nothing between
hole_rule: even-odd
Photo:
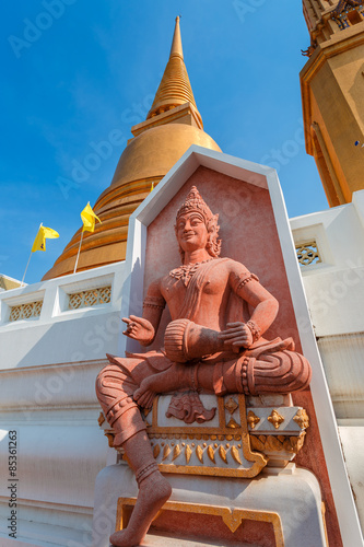
<instances>
[{"instance_id":1,"label":"reddish seated deity statue with pointed crown and one leg hanging down","mask_svg":"<svg viewBox=\"0 0 364 547\"><path fill-rule=\"evenodd\" d=\"M116 432L114 446L122 446L139 487L127 528L110 537L117 547L139 545L172 493L153 457L140 407L151 407L158 394L173 394L176 401L187 393L191 412L180 412L178 404L168 411L187 423L201 422L212 417L196 403L201 392L287 394L310 381L310 365L294 351L292 338L263 337L279 303L245 266L220 257L218 219L192 187L175 225L181 266L152 282L142 317L122 319L124 334L148 347L167 304L172 321L164 348L107 356L109 364L97 377L98 400Z\"/></svg>"}]
</instances>

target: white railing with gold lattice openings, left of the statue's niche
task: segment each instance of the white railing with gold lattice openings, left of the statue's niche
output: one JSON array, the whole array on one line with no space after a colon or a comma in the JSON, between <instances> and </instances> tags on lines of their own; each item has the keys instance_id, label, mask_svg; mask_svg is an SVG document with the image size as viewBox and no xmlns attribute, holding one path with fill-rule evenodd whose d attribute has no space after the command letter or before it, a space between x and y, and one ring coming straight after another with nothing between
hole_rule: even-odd
<instances>
[{"instance_id":1,"label":"white railing with gold lattice openings, left of the statue's niche","mask_svg":"<svg viewBox=\"0 0 364 547\"><path fill-rule=\"evenodd\" d=\"M117 352L124 282L122 261L1 292L0 370L92 361ZM70 299L78 300L78 307L70 307ZM42 302L38 315L28 313L34 302ZM10 321L16 306L28 317Z\"/></svg>"}]
</instances>

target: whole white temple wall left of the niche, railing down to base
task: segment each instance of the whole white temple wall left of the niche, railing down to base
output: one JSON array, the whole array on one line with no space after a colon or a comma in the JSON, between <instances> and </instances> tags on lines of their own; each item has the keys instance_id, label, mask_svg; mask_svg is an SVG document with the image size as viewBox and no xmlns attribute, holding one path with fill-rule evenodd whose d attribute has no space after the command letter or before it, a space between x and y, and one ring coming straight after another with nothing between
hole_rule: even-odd
<instances>
[{"instance_id":1,"label":"whole white temple wall left of the niche, railing down to base","mask_svg":"<svg viewBox=\"0 0 364 547\"><path fill-rule=\"evenodd\" d=\"M117 352L124 269L0 295L0 545L91 545L95 478L108 453L94 385L106 351ZM69 309L70 295L80 307ZM13 307L31 316L9 321ZM7 529L9 431L17 439L16 540Z\"/></svg>"}]
</instances>

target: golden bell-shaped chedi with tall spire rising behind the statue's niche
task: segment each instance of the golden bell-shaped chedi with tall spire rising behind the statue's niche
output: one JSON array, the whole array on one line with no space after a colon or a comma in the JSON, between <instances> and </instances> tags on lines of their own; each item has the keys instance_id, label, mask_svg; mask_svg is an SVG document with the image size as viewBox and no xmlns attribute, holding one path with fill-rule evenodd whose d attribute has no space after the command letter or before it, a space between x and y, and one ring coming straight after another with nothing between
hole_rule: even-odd
<instances>
[{"instance_id":1,"label":"golden bell-shaped chedi with tall spire rising behind the statue's niche","mask_svg":"<svg viewBox=\"0 0 364 547\"><path fill-rule=\"evenodd\" d=\"M179 18L164 71L146 120L131 128L133 138L124 150L110 186L93 207L102 223L85 232L78 271L105 266L126 257L128 222L152 188L168 173L191 144L220 151L203 131L184 62ZM43 279L73 272L81 237L74 234Z\"/></svg>"}]
</instances>

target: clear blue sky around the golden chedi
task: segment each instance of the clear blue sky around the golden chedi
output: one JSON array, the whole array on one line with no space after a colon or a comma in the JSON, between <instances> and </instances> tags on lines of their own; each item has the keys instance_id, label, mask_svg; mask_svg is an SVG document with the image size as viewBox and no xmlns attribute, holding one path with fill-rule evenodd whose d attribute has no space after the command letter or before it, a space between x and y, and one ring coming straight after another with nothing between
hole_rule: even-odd
<instances>
[{"instance_id":1,"label":"clear blue sky around the golden chedi","mask_svg":"<svg viewBox=\"0 0 364 547\"><path fill-rule=\"evenodd\" d=\"M40 280L109 185L130 127L145 118L181 15L204 130L232 155L278 168L290 217L327 209L305 152L298 73L309 45L300 0L17 0L1 32L0 272ZM122 132L93 170L75 165Z\"/></svg>"}]
</instances>

